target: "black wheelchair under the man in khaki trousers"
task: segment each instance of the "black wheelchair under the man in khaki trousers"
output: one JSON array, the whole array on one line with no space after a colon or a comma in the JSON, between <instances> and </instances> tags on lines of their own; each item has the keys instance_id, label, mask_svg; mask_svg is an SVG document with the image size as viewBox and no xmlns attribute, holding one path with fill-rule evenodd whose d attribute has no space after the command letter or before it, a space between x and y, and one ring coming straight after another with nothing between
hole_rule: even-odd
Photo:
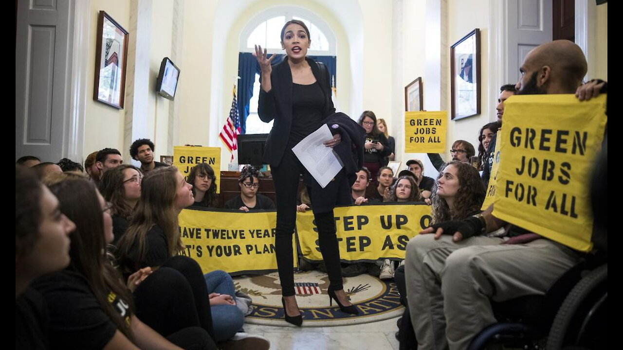
<instances>
[{"instance_id":1,"label":"black wheelchair under the man in khaki trousers","mask_svg":"<svg viewBox=\"0 0 623 350\"><path fill-rule=\"evenodd\" d=\"M480 331L468 350L606 349L607 263L583 260L545 295L493 302L498 323ZM401 277L397 277L401 278ZM401 281L396 281L401 285ZM399 288L400 290L401 288ZM398 320L400 350L417 349L409 309Z\"/></svg>"}]
</instances>

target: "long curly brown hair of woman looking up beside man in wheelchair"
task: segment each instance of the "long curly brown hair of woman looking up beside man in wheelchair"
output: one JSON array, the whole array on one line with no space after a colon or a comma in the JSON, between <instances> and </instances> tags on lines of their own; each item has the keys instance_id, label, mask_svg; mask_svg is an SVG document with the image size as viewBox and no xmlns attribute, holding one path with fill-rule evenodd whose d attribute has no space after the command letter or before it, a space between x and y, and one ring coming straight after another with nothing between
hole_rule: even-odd
<instances>
[{"instance_id":1,"label":"long curly brown hair of woman looking up beside man in wheelchair","mask_svg":"<svg viewBox=\"0 0 623 350\"><path fill-rule=\"evenodd\" d=\"M457 169L457 177L459 177L459 191L455 196L453 209L450 209L444 198L437 195L439 178L448 166L454 166ZM435 185L432 187L430 200L432 201L432 223L439 224L447 220L467 219L467 217L480 212L480 206L485 200L485 185L473 166L468 163L452 161L444 164L442 171L439 172Z\"/></svg>"}]
</instances>

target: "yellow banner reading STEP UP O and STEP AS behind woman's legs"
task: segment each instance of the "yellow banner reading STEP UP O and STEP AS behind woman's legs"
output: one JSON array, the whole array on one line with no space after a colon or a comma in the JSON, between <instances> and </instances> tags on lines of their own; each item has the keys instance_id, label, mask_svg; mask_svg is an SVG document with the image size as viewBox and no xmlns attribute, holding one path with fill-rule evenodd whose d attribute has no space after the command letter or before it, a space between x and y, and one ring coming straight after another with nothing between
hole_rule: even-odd
<instances>
[{"instance_id":1,"label":"yellow banner reading STEP UP O and STEP AS behind woman's legs","mask_svg":"<svg viewBox=\"0 0 623 350\"><path fill-rule=\"evenodd\" d=\"M431 220L429 206L414 204L337 207L333 214L340 258L350 262L404 259L409 239ZM312 212L297 213L298 242L308 260L322 260L317 230Z\"/></svg>"}]
</instances>

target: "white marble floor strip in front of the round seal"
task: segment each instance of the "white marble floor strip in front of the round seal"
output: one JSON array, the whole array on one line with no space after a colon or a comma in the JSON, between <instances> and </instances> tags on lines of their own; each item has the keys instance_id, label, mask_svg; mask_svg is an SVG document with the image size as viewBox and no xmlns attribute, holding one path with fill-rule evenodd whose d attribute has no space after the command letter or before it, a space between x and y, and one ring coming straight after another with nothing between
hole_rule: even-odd
<instances>
[{"instance_id":1,"label":"white marble floor strip in front of the round seal","mask_svg":"<svg viewBox=\"0 0 623 350\"><path fill-rule=\"evenodd\" d=\"M271 350L398 350L396 320L338 327L275 327L245 324L247 333L270 340Z\"/></svg>"}]
</instances>

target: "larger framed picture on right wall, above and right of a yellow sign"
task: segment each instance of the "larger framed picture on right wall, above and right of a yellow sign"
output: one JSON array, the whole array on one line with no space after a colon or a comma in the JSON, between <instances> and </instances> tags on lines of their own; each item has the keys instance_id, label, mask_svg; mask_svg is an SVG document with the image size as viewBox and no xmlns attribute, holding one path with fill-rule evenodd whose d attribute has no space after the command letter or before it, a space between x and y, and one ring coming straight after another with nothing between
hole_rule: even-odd
<instances>
[{"instance_id":1,"label":"larger framed picture on right wall, above and right of a yellow sign","mask_svg":"<svg viewBox=\"0 0 623 350\"><path fill-rule=\"evenodd\" d=\"M450 47L452 120L480 114L480 29Z\"/></svg>"}]
</instances>

